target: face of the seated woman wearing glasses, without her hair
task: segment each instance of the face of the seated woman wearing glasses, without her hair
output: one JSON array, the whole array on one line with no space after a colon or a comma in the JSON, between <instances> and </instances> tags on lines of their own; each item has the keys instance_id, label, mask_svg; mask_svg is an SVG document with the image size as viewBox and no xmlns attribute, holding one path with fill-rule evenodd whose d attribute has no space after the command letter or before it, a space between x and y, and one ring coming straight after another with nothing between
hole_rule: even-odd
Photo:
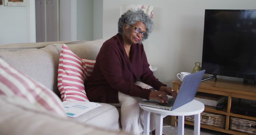
<instances>
[{"instance_id":1,"label":"face of the seated woman wearing glasses, without her hair","mask_svg":"<svg viewBox=\"0 0 256 135\"><path fill-rule=\"evenodd\" d=\"M136 28L140 29L140 32L146 32L146 25L141 21L135 22L134 24L131 24L128 27L126 27L126 23L124 24L124 33L122 34L124 38L124 43L137 44L142 41L143 37L141 33L137 34L135 32Z\"/></svg>"}]
</instances>

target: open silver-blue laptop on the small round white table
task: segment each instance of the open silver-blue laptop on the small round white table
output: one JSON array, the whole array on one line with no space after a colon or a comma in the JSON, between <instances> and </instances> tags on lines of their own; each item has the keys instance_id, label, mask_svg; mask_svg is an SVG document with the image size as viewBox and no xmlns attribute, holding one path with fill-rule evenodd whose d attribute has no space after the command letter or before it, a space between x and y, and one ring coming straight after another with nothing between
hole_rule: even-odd
<instances>
[{"instance_id":1,"label":"open silver-blue laptop on the small round white table","mask_svg":"<svg viewBox=\"0 0 256 135\"><path fill-rule=\"evenodd\" d=\"M180 90L176 96L176 99L168 95L168 103L160 103L160 101L156 99L150 99L147 101L140 101L139 104L171 111L177 109L178 107L185 105L194 99L204 72L205 70L202 70L186 75L181 83Z\"/></svg>"}]
</instances>

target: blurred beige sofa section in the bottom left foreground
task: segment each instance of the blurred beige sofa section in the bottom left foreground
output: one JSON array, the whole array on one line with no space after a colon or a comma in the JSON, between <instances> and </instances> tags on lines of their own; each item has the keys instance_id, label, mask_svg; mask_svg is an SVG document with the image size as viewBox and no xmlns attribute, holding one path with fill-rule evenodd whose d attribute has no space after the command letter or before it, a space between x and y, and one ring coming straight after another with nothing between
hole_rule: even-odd
<instances>
[{"instance_id":1,"label":"blurred beige sofa section in the bottom left foreground","mask_svg":"<svg viewBox=\"0 0 256 135\"><path fill-rule=\"evenodd\" d=\"M0 106L0 135L128 135L52 115L20 97L0 95Z\"/></svg>"}]
</instances>

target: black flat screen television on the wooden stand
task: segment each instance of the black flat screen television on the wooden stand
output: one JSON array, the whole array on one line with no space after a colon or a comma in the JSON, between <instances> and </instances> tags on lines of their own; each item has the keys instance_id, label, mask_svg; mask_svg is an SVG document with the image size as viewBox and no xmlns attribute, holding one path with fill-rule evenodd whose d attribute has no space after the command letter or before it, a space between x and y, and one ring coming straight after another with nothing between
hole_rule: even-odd
<instances>
[{"instance_id":1,"label":"black flat screen television on the wooden stand","mask_svg":"<svg viewBox=\"0 0 256 135\"><path fill-rule=\"evenodd\" d=\"M205 10L202 69L256 80L256 10Z\"/></svg>"}]
</instances>

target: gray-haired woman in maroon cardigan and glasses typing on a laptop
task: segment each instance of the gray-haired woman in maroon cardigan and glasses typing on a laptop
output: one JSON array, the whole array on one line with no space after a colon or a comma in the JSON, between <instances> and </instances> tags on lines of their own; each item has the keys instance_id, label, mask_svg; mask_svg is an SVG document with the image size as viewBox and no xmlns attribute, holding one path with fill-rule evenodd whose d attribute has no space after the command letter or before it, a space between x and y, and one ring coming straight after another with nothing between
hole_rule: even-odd
<instances>
[{"instance_id":1,"label":"gray-haired woman in maroon cardigan and glasses typing on a laptop","mask_svg":"<svg viewBox=\"0 0 256 135\"><path fill-rule=\"evenodd\" d=\"M138 105L142 99L164 103L168 102L166 94L176 97L176 92L158 81L149 68L142 41L148 38L152 28L152 20L142 10L124 13L118 21L118 34L102 45L85 85L90 101L118 103L122 130L136 135L143 131L143 113ZM135 85L137 79L156 91Z\"/></svg>"}]
</instances>

